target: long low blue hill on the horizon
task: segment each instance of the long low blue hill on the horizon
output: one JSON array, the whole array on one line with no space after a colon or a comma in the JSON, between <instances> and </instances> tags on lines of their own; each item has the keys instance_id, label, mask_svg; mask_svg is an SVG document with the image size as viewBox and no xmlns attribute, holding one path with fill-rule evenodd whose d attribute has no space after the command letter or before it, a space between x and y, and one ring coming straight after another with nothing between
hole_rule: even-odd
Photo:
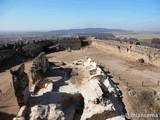
<instances>
[{"instance_id":1,"label":"long low blue hill on the horizon","mask_svg":"<svg viewBox=\"0 0 160 120\"><path fill-rule=\"evenodd\" d=\"M121 29L106 29L106 28L84 28L84 29L68 29L68 30L53 30L48 33L65 34L65 33L96 33L96 32L128 32Z\"/></svg>"}]
</instances>

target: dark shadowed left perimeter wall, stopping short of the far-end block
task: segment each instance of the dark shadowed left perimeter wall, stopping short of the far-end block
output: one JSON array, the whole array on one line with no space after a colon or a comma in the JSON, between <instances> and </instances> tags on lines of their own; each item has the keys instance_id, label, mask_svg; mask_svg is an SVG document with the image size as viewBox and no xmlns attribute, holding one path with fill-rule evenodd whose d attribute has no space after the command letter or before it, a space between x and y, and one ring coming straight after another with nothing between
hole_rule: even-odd
<instances>
[{"instance_id":1,"label":"dark shadowed left perimeter wall, stopping short of the far-end block","mask_svg":"<svg viewBox=\"0 0 160 120\"><path fill-rule=\"evenodd\" d=\"M27 57L35 57L43 51L46 45L54 44L52 41L31 41L17 42L12 44L4 44L0 46L0 63L7 61L13 55L22 55Z\"/></svg>"}]
</instances>

